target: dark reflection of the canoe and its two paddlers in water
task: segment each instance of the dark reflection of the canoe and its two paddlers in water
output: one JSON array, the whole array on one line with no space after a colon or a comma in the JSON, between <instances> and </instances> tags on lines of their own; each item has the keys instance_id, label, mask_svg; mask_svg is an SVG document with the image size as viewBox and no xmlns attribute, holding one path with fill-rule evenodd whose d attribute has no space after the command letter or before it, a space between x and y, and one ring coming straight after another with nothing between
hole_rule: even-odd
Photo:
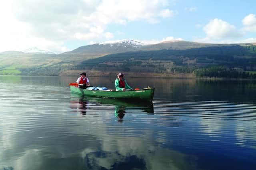
<instances>
[{"instance_id":1,"label":"dark reflection of the canoe and its two paddlers in water","mask_svg":"<svg viewBox=\"0 0 256 170\"><path fill-rule=\"evenodd\" d=\"M118 122L124 121L124 115L129 112L144 112L154 113L154 106L151 101L123 101L110 98L96 98L90 96L79 95L70 93L71 96L71 109L72 112L80 112L81 115L86 115L88 111L108 111L115 106L115 116L118 118ZM104 106L104 110L102 108ZM86 107L90 107L89 109Z\"/></svg>"}]
</instances>

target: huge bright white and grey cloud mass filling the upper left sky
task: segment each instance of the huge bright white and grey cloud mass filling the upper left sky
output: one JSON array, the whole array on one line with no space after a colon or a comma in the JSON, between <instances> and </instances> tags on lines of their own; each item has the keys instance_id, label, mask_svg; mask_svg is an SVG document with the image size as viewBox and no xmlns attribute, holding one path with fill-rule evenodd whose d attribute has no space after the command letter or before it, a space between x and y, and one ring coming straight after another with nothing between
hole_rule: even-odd
<instances>
[{"instance_id":1,"label":"huge bright white and grey cloud mass filling the upper left sky","mask_svg":"<svg viewBox=\"0 0 256 170\"><path fill-rule=\"evenodd\" d=\"M49 50L66 49L70 40L110 39L109 24L132 21L158 23L172 17L167 0L10 0L1 2L0 51L40 44ZM52 46L54 45L54 46Z\"/></svg>"}]
</instances>

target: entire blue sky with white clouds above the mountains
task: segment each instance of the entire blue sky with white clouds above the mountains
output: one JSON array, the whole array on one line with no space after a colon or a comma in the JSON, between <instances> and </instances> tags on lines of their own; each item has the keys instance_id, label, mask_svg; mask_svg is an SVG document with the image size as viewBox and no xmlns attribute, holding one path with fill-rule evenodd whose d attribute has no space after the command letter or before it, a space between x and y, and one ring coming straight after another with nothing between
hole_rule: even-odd
<instances>
[{"instance_id":1,"label":"entire blue sky with white clouds above the mountains","mask_svg":"<svg viewBox=\"0 0 256 170\"><path fill-rule=\"evenodd\" d=\"M9 0L0 12L0 51L61 53L122 39L256 42L253 0Z\"/></svg>"}]
</instances>

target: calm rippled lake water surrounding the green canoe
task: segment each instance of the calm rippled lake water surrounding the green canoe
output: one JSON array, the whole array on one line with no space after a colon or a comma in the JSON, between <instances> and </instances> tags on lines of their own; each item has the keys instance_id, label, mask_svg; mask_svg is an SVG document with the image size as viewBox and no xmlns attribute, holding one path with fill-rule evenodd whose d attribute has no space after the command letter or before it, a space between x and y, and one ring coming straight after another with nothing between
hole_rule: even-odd
<instances>
[{"instance_id":1,"label":"calm rippled lake water surrounding the green canoe","mask_svg":"<svg viewBox=\"0 0 256 170\"><path fill-rule=\"evenodd\" d=\"M256 169L256 82L127 77L156 90L122 102L70 94L77 78L0 76L0 170Z\"/></svg>"}]
</instances>

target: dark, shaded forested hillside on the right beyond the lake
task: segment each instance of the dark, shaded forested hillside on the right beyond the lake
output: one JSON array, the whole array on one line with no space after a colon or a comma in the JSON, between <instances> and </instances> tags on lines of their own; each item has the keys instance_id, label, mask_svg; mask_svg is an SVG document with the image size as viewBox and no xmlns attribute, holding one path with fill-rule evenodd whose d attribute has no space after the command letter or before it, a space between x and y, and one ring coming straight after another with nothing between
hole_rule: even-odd
<instances>
[{"instance_id":1,"label":"dark, shaded forested hillside on the right beyond the lake","mask_svg":"<svg viewBox=\"0 0 256 170\"><path fill-rule=\"evenodd\" d=\"M234 68L236 68L235 71L238 70L237 68L243 72L253 71L256 70L255 47L255 45L228 45L186 50L133 51L83 61L76 68L126 72L187 73L199 72L201 68L225 66L227 72ZM221 69L223 70L222 67ZM218 72L218 69L216 71ZM204 76L204 74L197 75Z\"/></svg>"}]
</instances>

